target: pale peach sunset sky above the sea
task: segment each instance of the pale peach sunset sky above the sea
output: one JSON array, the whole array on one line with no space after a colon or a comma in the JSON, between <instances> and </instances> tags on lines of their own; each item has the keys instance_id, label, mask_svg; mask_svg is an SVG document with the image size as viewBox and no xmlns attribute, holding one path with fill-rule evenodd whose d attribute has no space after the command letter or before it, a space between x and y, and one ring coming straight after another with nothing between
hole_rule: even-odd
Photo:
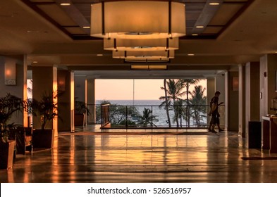
<instances>
[{"instance_id":1,"label":"pale peach sunset sky above the sea","mask_svg":"<svg viewBox=\"0 0 277 197\"><path fill-rule=\"evenodd\" d=\"M199 83L207 87L206 80ZM164 80L95 80L96 100L159 100ZM190 89L194 89L193 86ZM134 90L134 91L133 91Z\"/></svg>"}]
</instances>

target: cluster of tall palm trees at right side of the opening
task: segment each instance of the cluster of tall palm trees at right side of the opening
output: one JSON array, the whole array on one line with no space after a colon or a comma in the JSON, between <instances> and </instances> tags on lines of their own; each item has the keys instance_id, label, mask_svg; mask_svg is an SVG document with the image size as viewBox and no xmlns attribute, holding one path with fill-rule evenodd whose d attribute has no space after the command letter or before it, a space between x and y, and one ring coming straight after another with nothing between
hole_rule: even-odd
<instances>
[{"instance_id":1,"label":"cluster of tall palm trees at right side of the opening","mask_svg":"<svg viewBox=\"0 0 277 197\"><path fill-rule=\"evenodd\" d=\"M196 86L191 92L190 86L199 82L199 79L180 79L180 80L164 80L165 96L159 99L164 100L160 106L164 106L166 110L173 110L173 122L176 122L177 127L183 127L183 122L190 127L190 120L193 118L197 126L201 125L201 120L206 115L207 98L204 96L205 89L201 86ZM184 91L185 89L185 91ZM185 96L185 99L183 99ZM190 98L191 96L191 98ZM169 115L168 123L171 122ZM169 127L171 125L168 124Z\"/></svg>"}]
</instances>

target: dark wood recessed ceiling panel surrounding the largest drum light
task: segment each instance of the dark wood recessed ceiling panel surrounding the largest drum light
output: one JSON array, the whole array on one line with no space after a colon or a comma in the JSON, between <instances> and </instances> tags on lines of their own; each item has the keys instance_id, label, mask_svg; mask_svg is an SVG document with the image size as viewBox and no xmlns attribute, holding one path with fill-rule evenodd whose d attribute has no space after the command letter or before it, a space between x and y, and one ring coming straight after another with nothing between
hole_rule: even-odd
<instances>
[{"instance_id":1,"label":"dark wood recessed ceiling panel surrounding the largest drum light","mask_svg":"<svg viewBox=\"0 0 277 197\"><path fill-rule=\"evenodd\" d=\"M183 0L187 35L181 39L216 39L254 0ZM90 36L91 4L99 0L23 0L27 6L74 40L97 39ZM70 6L61 6L69 2ZM210 6L218 2L220 6ZM196 28L202 25L204 28ZM197 36L193 36L197 34Z\"/></svg>"}]
</instances>

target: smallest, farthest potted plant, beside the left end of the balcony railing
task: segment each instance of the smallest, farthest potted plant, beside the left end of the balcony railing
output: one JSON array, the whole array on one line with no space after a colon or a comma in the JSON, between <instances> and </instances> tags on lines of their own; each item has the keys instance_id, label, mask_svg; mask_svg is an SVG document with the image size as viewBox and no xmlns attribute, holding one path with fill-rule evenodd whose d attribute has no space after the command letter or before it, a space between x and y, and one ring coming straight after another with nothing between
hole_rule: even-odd
<instances>
[{"instance_id":1,"label":"smallest, farthest potted plant, beside the left end of the balcony railing","mask_svg":"<svg viewBox=\"0 0 277 197\"><path fill-rule=\"evenodd\" d=\"M90 114L90 110L87 108L85 102L75 101L74 105L74 125L85 125L85 115Z\"/></svg>"}]
</instances>

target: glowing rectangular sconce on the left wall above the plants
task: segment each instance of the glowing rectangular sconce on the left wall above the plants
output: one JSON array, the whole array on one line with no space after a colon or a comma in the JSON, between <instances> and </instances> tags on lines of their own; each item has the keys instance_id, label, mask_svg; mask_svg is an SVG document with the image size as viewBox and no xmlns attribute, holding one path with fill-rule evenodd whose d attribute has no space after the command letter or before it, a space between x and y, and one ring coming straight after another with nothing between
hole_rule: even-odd
<instances>
[{"instance_id":1,"label":"glowing rectangular sconce on the left wall above the plants","mask_svg":"<svg viewBox=\"0 0 277 197\"><path fill-rule=\"evenodd\" d=\"M5 84L16 85L16 61L11 59L5 61Z\"/></svg>"}]
</instances>

